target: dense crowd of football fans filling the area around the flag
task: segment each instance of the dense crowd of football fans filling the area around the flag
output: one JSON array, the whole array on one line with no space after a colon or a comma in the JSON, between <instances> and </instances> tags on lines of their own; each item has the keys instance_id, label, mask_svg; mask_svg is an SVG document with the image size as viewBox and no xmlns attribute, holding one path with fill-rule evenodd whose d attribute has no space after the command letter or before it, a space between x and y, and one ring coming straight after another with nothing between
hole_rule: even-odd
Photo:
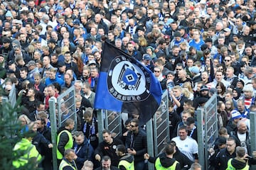
<instances>
[{"instance_id":1,"label":"dense crowd of football fans filling the area around the flag","mask_svg":"<svg viewBox=\"0 0 256 170\"><path fill-rule=\"evenodd\" d=\"M26 145L33 149L26 157L42 155L36 157L39 166L52 169L49 98L75 86L78 132L71 134L74 111L65 102L59 169L142 170L145 159L156 169L201 169L193 164L201 157L196 109L217 94L220 137L209 149L210 168L249 169L255 164L248 135L250 111L256 111L255 11L252 0L1 1L3 95L16 86L21 133L36 134L24 135L14 150ZM159 157L146 153L145 130L132 113L123 120L121 137L104 130L98 141L93 110L106 41L142 62L169 92L171 142ZM17 160L14 166L26 163Z\"/></svg>"}]
</instances>

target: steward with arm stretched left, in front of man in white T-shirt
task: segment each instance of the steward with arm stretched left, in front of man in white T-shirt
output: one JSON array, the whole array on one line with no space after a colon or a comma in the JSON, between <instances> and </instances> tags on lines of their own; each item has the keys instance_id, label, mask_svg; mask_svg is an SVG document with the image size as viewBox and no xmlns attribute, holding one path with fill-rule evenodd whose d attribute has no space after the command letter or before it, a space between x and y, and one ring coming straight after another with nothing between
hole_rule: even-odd
<instances>
[{"instance_id":1,"label":"steward with arm stretched left, in front of man in white T-shirt","mask_svg":"<svg viewBox=\"0 0 256 170\"><path fill-rule=\"evenodd\" d=\"M150 157L149 154L144 154L144 159L148 159L149 162L154 163L156 170L180 170L181 165L174 158L174 147L172 143L167 144L164 148L164 153L159 157Z\"/></svg>"}]
</instances>

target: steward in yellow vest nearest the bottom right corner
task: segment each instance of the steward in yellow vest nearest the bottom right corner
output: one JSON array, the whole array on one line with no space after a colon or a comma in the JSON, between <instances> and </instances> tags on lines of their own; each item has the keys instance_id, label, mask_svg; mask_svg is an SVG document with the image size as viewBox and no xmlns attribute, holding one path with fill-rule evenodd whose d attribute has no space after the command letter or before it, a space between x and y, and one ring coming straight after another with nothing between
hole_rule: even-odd
<instances>
[{"instance_id":1,"label":"steward in yellow vest nearest the bottom right corner","mask_svg":"<svg viewBox=\"0 0 256 170\"><path fill-rule=\"evenodd\" d=\"M236 147L236 157L228 160L228 168L226 170L249 170L250 166L247 164L245 158L247 154L244 147Z\"/></svg>"}]
</instances>

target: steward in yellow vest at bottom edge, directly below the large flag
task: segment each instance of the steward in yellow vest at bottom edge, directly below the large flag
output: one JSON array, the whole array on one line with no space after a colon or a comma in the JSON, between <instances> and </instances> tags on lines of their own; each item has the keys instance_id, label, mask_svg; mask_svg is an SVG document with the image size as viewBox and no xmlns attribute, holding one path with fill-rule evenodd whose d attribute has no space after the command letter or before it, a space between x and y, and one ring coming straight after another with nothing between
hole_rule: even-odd
<instances>
[{"instance_id":1,"label":"steward in yellow vest at bottom edge, directly below the large flag","mask_svg":"<svg viewBox=\"0 0 256 170\"><path fill-rule=\"evenodd\" d=\"M134 157L132 154L125 153L124 145L117 145L116 154L120 157L118 168L121 170L134 170Z\"/></svg>"}]
</instances>

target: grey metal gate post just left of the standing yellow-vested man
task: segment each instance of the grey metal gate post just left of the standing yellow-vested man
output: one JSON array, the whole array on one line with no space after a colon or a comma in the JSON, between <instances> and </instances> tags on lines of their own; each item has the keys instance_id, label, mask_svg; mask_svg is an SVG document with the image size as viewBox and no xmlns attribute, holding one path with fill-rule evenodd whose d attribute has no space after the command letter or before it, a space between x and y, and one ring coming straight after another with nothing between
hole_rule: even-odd
<instances>
[{"instance_id":1,"label":"grey metal gate post just left of the standing yellow-vested man","mask_svg":"<svg viewBox=\"0 0 256 170\"><path fill-rule=\"evenodd\" d=\"M57 141L56 141L56 135L57 135L57 119L56 119L56 113L55 113L55 98L51 97L49 99L49 108L50 108L50 134L53 144L53 169L58 169L57 164ZM60 121L60 120L59 120Z\"/></svg>"}]
</instances>

